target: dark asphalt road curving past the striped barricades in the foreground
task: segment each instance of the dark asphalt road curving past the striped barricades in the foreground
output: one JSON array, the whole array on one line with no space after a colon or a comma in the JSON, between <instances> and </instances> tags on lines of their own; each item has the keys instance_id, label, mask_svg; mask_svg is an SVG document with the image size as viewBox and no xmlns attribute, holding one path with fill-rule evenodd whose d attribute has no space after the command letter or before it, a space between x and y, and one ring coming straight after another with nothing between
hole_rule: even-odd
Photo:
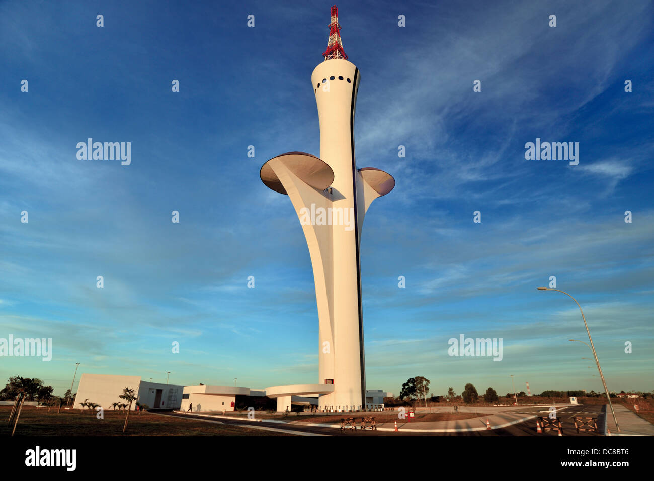
<instances>
[{"instance_id":1,"label":"dark asphalt road curving past the striped barricades in the foreground","mask_svg":"<svg viewBox=\"0 0 654 481\"><path fill-rule=\"evenodd\" d=\"M524 416L543 416L547 418L549 416L549 409L547 406L525 406L517 407L511 412L518 414L523 414ZM275 431L286 431L291 433L303 435L326 435L326 436L558 436L557 431L545 431L543 434L538 434L536 432L536 420L534 418L516 423L514 425L504 427L501 429L491 429L490 431L473 431L468 433L411 433L409 429L403 429L403 425L400 424L400 432L395 433L392 431L361 431L356 429L353 431L348 429L346 431L341 431L340 429L333 427L321 427L321 426L307 426L301 423L294 424L284 424L284 423L271 423L271 422L248 422L235 419L226 419L222 416L215 416L212 418L207 418L205 416L196 416L195 414L178 414L175 412L161 412L160 414L165 414L168 416L181 416L185 418L194 418L197 420L214 420L220 423L229 424L229 425L239 425L243 427L258 428L266 427L269 429L274 429ZM606 406L604 405L573 405L567 406L564 409L557 411L557 416L559 416L562 422L562 434L564 436L599 436L604 435L604 416L606 416ZM574 427L574 416L588 416L594 417L597 419L598 433L581 431L577 434L577 431ZM336 418L335 418L336 422ZM414 423L413 425L417 425ZM384 425L384 427L388 427Z\"/></svg>"}]
</instances>

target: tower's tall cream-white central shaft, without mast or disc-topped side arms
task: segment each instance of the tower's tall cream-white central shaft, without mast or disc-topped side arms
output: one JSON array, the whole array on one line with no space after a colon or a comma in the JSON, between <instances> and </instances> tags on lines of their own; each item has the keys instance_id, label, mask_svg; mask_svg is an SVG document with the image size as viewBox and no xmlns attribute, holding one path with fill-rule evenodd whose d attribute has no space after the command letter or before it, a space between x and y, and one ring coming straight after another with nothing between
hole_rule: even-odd
<instances>
[{"instance_id":1,"label":"tower's tall cream-white central shaft, without mast or disc-topped side arms","mask_svg":"<svg viewBox=\"0 0 654 481\"><path fill-rule=\"evenodd\" d=\"M342 78L342 80L340 80ZM334 172L328 201L333 212L351 216L352 229L345 225L316 226L330 229L329 250L332 262L326 287L331 299L329 319L320 318L320 344L330 342L330 353L320 350L320 382L334 379L334 393L320 396L320 406L366 405L363 320L359 261L360 225L365 214L360 176L354 158L354 112L359 73L356 65L344 59L320 63L311 80L315 86L320 124L320 159ZM326 80L326 82L322 82ZM333 215L332 215L333 217ZM318 294L318 292L317 292ZM333 375L332 375L333 373ZM344 407L341 407L341 409Z\"/></svg>"}]
</instances>

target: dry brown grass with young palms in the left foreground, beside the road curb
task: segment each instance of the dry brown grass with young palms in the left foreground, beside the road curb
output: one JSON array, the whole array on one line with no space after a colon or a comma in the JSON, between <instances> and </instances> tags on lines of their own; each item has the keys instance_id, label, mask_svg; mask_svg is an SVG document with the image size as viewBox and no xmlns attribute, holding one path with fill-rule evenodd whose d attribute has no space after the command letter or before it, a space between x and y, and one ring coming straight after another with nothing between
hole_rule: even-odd
<instances>
[{"instance_id":1,"label":"dry brown grass with young palms in the left foreground, beside the road curb","mask_svg":"<svg viewBox=\"0 0 654 481\"><path fill-rule=\"evenodd\" d=\"M0 437L9 437L13 428L7 426L12 406L0 406ZM104 419L84 410L61 410L23 406L16 427L17 436L291 436L286 433L262 431L246 427L220 425L174 416L159 416L150 412L129 413L125 434L122 427L125 413L105 410Z\"/></svg>"}]
</instances>

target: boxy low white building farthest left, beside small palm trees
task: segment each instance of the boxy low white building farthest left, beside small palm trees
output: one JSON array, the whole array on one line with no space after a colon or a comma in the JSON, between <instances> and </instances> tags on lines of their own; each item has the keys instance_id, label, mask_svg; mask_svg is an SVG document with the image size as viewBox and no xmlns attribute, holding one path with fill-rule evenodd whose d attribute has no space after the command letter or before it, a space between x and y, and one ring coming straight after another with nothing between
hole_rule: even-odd
<instances>
[{"instance_id":1,"label":"boxy low white building farthest left, beside small palm trees","mask_svg":"<svg viewBox=\"0 0 654 481\"><path fill-rule=\"evenodd\" d=\"M132 410L136 409L136 403L148 405L150 408L179 409L184 386L146 382L141 380L141 376L84 373L77 388L73 407L80 408L79 403L88 399L88 402L97 403L105 410L111 409L114 402L127 403L118 397L125 388L133 389L137 396L136 401L131 405Z\"/></svg>"}]
</instances>

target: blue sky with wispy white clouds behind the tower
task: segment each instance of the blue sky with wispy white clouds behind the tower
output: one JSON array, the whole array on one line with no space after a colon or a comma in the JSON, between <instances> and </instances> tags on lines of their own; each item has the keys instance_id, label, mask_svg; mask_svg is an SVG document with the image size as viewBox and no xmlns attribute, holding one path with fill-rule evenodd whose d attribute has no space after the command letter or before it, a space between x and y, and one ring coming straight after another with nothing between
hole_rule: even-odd
<instances>
[{"instance_id":1,"label":"blue sky with wispy white clouds behind the tower","mask_svg":"<svg viewBox=\"0 0 654 481\"><path fill-rule=\"evenodd\" d=\"M310 76L330 6L0 2L0 337L53 342L50 362L0 358L0 381L63 394L78 362L77 380L317 382L309 253L258 173L319 154ZM653 3L338 7L361 73L357 165L397 182L361 239L368 388L506 393L513 374L519 390L599 391L568 342L587 340L578 308L536 290L555 275L609 389L654 389ZM88 137L131 142L131 165L78 160ZM579 142L579 165L526 160L537 137ZM448 356L460 334L502 338L502 361Z\"/></svg>"}]
</instances>

